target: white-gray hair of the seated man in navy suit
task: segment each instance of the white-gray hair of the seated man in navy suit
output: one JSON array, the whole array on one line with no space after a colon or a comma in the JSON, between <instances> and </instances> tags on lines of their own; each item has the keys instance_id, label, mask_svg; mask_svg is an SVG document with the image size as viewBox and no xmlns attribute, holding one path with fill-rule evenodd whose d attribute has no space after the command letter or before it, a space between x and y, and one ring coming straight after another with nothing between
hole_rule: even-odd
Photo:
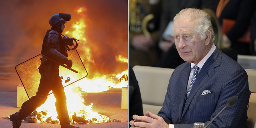
<instances>
[{"instance_id":1,"label":"white-gray hair of the seated man in navy suit","mask_svg":"<svg viewBox=\"0 0 256 128\"><path fill-rule=\"evenodd\" d=\"M204 10L200 10L197 8L183 9L174 17L174 24L176 21L180 19L189 19L191 21L194 21L194 30L198 32L200 40L206 39L207 30L209 30L212 34L210 42L214 42L215 34L212 29L210 15L206 13Z\"/></svg>"}]
</instances>

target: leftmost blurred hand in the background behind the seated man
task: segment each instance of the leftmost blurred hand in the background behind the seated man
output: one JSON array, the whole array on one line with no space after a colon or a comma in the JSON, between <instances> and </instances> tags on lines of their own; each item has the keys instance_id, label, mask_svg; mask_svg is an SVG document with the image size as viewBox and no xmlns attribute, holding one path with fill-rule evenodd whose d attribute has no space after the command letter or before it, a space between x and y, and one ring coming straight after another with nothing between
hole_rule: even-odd
<instances>
[{"instance_id":1,"label":"leftmost blurred hand in the background behind the seated man","mask_svg":"<svg viewBox=\"0 0 256 128\"><path fill-rule=\"evenodd\" d=\"M136 50L148 52L152 48L153 44L151 37L146 35L137 35L132 39L132 46Z\"/></svg>"}]
</instances>

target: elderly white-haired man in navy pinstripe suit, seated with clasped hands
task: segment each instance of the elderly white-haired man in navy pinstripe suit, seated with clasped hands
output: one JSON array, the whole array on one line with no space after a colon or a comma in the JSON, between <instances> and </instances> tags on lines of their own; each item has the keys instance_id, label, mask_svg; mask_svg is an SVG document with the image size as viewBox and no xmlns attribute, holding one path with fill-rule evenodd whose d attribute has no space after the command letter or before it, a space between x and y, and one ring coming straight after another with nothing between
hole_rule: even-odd
<instances>
[{"instance_id":1,"label":"elderly white-haired man in navy pinstripe suit, seated with clasped hands","mask_svg":"<svg viewBox=\"0 0 256 128\"><path fill-rule=\"evenodd\" d=\"M174 18L174 38L186 62L174 70L160 112L134 115L131 128L192 128L194 122L207 125L232 96L237 96L238 102L227 107L208 128L246 128L248 76L213 44L210 16L196 8L181 10Z\"/></svg>"}]
</instances>

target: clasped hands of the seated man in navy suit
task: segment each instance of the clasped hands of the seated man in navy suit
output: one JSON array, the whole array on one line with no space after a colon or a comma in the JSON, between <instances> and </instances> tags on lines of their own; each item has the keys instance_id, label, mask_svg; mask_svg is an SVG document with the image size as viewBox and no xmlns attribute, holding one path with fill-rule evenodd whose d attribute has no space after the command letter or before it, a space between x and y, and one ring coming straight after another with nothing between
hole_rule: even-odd
<instances>
[{"instance_id":1,"label":"clasped hands of the seated man in navy suit","mask_svg":"<svg viewBox=\"0 0 256 128\"><path fill-rule=\"evenodd\" d=\"M146 112L146 116L133 115L130 121L131 128L168 128L169 125L160 116Z\"/></svg>"}]
</instances>

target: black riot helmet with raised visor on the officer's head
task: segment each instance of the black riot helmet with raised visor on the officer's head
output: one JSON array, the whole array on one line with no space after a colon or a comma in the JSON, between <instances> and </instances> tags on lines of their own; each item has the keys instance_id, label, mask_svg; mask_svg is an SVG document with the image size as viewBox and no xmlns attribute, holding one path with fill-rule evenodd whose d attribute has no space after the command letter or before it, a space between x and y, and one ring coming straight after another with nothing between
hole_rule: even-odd
<instances>
[{"instance_id":1,"label":"black riot helmet with raised visor on the officer's head","mask_svg":"<svg viewBox=\"0 0 256 128\"><path fill-rule=\"evenodd\" d=\"M60 26L62 23L65 23L71 19L70 14L59 13L54 14L50 17L49 25L50 26Z\"/></svg>"}]
</instances>

